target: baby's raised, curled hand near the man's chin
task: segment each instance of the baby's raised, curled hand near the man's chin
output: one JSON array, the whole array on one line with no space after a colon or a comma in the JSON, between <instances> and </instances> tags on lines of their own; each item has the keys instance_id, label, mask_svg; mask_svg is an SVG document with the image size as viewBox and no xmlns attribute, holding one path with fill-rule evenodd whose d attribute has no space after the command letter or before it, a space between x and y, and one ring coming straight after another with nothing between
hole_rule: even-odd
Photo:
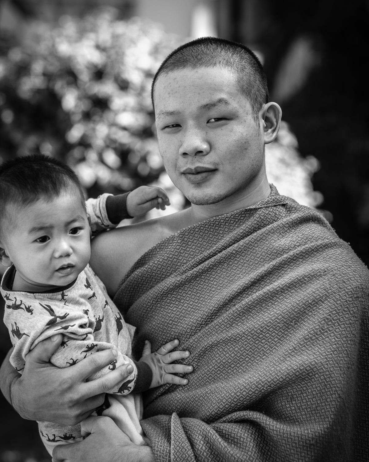
<instances>
[{"instance_id":1,"label":"baby's raised, curled hand near the man's chin","mask_svg":"<svg viewBox=\"0 0 369 462\"><path fill-rule=\"evenodd\" d=\"M140 217L154 207L165 210L170 205L167 193L156 186L140 186L127 196L127 212L131 217Z\"/></svg>"}]
</instances>

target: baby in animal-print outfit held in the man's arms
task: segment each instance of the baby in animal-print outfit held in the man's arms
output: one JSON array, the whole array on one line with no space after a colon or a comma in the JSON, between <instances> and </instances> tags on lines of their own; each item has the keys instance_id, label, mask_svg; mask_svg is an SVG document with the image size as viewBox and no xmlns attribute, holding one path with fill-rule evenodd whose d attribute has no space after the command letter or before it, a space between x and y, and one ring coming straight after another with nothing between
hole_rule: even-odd
<instances>
[{"instance_id":1,"label":"baby in animal-print outfit held in the man's arms","mask_svg":"<svg viewBox=\"0 0 369 462\"><path fill-rule=\"evenodd\" d=\"M136 444L149 444L139 424L142 398L138 392L154 383L185 385L186 379L169 372L191 372L192 366L169 364L189 356L185 351L168 354L178 340L156 353L151 353L148 344L138 362L131 359L135 328L125 324L88 264L90 226L92 230L114 227L120 219L168 204L161 188L149 187L85 203L73 170L43 155L16 158L0 166L0 262L8 267L1 295L6 301L4 322L14 346L10 361L22 373L26 354L54 334L63 334L60 348L51 357L58 367L114 348L117 359L89 380L124 364L133 371L109 391L95 412L111 417ZM50 454L58 444L83 439L79 425L38 424Z\"/></svg>"}]
</instances>

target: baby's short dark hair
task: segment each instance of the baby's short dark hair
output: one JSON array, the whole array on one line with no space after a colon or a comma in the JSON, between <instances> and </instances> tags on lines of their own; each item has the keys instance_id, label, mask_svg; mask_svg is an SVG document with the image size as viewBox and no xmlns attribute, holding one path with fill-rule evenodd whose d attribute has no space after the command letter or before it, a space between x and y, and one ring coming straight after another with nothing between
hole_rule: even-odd
<instances>
[{"instance_id":1,"label":"baby's short dark hair","mask_svg":"<svg viewBox=\"0 0 369 462\"><path fill-rule=\"evenodd\" d=\"M84 195L75 172L59 160L34 154L17 157L0 165L0 236L8 205L27 206L38 199L54 199L63 191L75 186ZM2 236L1 236L2 237Z\"/></svg>"}]
</instances>

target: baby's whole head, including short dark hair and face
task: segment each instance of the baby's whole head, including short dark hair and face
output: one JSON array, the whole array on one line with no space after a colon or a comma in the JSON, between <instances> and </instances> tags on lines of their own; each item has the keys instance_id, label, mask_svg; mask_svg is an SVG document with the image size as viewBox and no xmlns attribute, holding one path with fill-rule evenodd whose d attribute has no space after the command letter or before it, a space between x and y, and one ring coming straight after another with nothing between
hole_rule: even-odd
<instances>
[{"instance_id":1,"label":"baby's whole head, including short dark hair and face","mask_svg":"<svg viewBox=\"0 0 369 462\"><path fill-rule=\"evenodd\" d=\"M16 267L15 290L66 286L89 256L89 223L73 170L43 155L0 165L0 262Z\"/></svg>"}]
</instances>

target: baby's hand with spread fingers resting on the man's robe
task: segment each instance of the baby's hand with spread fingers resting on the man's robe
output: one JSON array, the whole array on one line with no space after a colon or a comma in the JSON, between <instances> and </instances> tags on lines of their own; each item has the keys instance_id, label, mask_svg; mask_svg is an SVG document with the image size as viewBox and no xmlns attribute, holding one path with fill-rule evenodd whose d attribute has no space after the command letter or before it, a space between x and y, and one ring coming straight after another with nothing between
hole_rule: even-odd
<instances>
[{"instance_id":1,"label":"baby's hand with spread fingers resting on the man's robe","mask_svg":"<svg viewBox=\"0 0 369 462\"><path fill-rule=\"evenodd\" d=\"M142 358L149 365L153 378L150 388L158 387L164 383L176 383L177 385L187 385L188 380L182 377L173 375L173 373L188 373L193 371L193 366L184 364L171 364L178 359L188 358L189 351L173 351L173 348L179 345L179 340L172 340L169 343L161 346L158 351L151 353L151 344L149 340L145 341L143 347ZM172 352L172 353L170 353Z\"/></svg>"}]
</instances>

